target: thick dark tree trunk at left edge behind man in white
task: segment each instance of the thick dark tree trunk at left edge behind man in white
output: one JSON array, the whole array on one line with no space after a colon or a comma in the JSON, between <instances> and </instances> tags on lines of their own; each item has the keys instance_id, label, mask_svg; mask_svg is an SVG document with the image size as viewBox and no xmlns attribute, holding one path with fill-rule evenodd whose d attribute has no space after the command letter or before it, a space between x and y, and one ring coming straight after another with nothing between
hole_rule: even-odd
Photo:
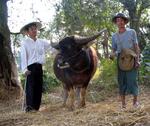
<instances>
[{"instance_id":1,"label":"thick dark tree trunk at left edge behind man in white","mask_svg":"<svg viewBox=\"0 0 150 126\"><path fill-rule=\"evenodd\" d=\"M22 88L11 50L7 0L0 1L0 19L0 100L10 100L20 97Z\"/></svg>"}]
</instances>

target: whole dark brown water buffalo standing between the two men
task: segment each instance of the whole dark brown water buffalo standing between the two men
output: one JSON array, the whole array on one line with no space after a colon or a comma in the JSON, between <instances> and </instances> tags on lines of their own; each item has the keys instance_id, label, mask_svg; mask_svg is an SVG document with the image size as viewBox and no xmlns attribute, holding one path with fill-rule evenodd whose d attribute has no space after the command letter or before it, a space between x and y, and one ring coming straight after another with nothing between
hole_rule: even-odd
<instances>
[{"instance_id":1,"label":"whole dark brown water buffalo standing between the two men","mask_svg":"<svg viewBox=\"0 0 150 126\"><path fill-rule=\"evenodd\" d=\"M74 108L76 88L80 88L79 107L85 106L86 89L97 67L97 54L90 45L104 31L91 37L69 36L57 44L52 43L52 47L59 51L54 60L54 73L66 91L64 104L69 95L70 110Z\"/></svg>"}]
</instances>

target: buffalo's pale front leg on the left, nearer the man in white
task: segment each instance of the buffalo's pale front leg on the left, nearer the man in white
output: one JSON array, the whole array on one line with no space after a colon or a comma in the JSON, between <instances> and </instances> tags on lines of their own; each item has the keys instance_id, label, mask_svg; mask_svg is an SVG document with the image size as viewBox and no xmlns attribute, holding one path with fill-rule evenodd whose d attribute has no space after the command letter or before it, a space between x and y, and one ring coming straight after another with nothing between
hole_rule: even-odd
<instances>
[{"instance_id":1,"label":"buffalo's pale front leg on the left, nearer the man in white","mask_svg":"<svg viewBox=\"0 0 150 126\"><path fill-rule=\"evenodd\" d=\"M75 101L75 93L74 93L74 89L71 88L69 90L69 104L68 104L68 108L69 110L73 110L74 109L74 101Z\"/></svg>"}]
</instances>

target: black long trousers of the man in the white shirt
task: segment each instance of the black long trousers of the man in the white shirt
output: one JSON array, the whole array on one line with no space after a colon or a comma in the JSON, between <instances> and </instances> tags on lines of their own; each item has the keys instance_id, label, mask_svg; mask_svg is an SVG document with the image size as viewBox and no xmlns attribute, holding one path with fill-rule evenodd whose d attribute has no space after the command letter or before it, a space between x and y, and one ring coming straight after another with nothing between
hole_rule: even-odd
<instances>
[{"instance_id":1,"label":"black long trousers of the man in the white shirt","mask_svg":"<svg viewBox=\"0 0 150 126\"><path fill-rule=\"evenodd\" d=\"M42 97L43 70L42 65L34 63L28 66L31 74L26 82L26 111L39 110Z\"/></svg>"}]
</instances>

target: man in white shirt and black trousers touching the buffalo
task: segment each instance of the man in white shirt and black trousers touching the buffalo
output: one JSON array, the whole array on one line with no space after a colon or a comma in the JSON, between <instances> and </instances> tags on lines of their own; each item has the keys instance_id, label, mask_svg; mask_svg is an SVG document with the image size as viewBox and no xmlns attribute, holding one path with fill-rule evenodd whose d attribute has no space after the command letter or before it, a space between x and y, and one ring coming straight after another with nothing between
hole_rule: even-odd
<instances>
[{"instance_id":1,"label":"man in white shirt and black trousers touching the buffalo","mask_svg":"<svg viewBox=\"0 0 150 126\"><path fill-rule=\"evenodd\" d=\"M45 53L50 43L37 38L40 22L31 22L20 30L27 38L21 43L21 66L26 76L26 112L37 111L42 97L43 70Z\"/></svg>"}]
</instances>

